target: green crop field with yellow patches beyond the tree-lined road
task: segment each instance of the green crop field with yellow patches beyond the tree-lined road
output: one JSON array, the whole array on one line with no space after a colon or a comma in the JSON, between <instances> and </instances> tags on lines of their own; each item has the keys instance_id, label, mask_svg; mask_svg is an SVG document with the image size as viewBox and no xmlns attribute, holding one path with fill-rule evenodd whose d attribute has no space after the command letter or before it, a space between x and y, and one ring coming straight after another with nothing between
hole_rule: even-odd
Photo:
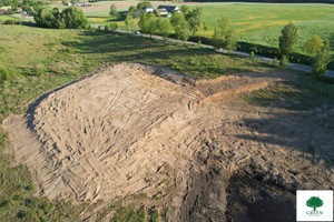
<instances>
[{"instance_id":1,"label":"green crop field with yellow patches beyond the tree-lined road","mask_svg":"<svg viewBox=\"0 0 334 222\"><path fill-rule=\"evenodd\" d=\"M203 3L203 19L208 31L199 36L212 37L217 19L226 16L238 34L239 41L277 47L282 28L289 21L299 28L296 51L317 34L328 38L334 50L334 6L321 3Z\"/></svg>"}]
</instances>

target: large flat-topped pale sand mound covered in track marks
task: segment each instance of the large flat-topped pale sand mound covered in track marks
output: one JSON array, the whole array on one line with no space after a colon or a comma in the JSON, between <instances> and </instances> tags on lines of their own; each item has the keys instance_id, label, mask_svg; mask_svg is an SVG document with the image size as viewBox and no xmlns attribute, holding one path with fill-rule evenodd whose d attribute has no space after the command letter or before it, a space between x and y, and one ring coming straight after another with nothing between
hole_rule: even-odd
<instances>
[{"instance_id":1,"label":"large flat-topped pale sand mound covered in track marks","mask_svg":"<svg viewBox=\"0 0 334 222\"><path fill-rule=\"evenodd\" d=\"M119 64L49 94L28 117L35 137L27 120L4 121L9 132L26 129L12 134L22 142L16 159L32 170L40 194L78 202L154 194L145 178L165 163L185 169L219 112L195 112L200 93L156 73L166 71Z\"/></svg>"}]
</instances>

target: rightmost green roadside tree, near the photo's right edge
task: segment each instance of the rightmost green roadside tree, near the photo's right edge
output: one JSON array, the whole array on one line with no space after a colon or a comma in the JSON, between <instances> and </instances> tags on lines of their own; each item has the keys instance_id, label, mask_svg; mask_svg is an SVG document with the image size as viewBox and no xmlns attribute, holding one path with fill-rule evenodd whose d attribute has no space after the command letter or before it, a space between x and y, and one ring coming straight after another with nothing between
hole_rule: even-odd
<instances>
[{"instance_id":1,"label":"rightmost green roadside tree, near the photo's right edge","mask_svg":"<svg viewBox=\"0 0 334 222\"><path fill-rule=\"evenodd\" d=\"M330 40L325 39L324 46L321 48L320 51L316 52L314 57L314 61L312 63L313 72L322 77L326 73L327 64L332 61L332 53L330 47Z\"/></svg>"}]
</instances>

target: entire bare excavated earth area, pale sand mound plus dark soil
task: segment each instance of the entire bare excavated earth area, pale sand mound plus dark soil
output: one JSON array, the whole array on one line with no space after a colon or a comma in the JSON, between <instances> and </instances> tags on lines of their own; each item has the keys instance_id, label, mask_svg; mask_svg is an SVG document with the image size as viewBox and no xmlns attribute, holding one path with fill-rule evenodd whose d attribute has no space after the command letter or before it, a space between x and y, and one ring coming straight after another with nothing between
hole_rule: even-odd
<instances>
[{"instance_id":1,"label":"entire bare excavated earth area, pale sand mound plus dark soil","mask_svg":"<svg viewBox=\"0 0 334 222\"><path fill-rule=\"evenodd\" d=\"M37 196L104 200L82 212L87 221L144 193L140 204L168 206L168 221L293 221L297 189L334 189L333 130L317 124L331 115L237 99L293 78L272 71L194 81L117 64L7 118L8 152L31 170Z\"/></svg>"}]
</instances>

